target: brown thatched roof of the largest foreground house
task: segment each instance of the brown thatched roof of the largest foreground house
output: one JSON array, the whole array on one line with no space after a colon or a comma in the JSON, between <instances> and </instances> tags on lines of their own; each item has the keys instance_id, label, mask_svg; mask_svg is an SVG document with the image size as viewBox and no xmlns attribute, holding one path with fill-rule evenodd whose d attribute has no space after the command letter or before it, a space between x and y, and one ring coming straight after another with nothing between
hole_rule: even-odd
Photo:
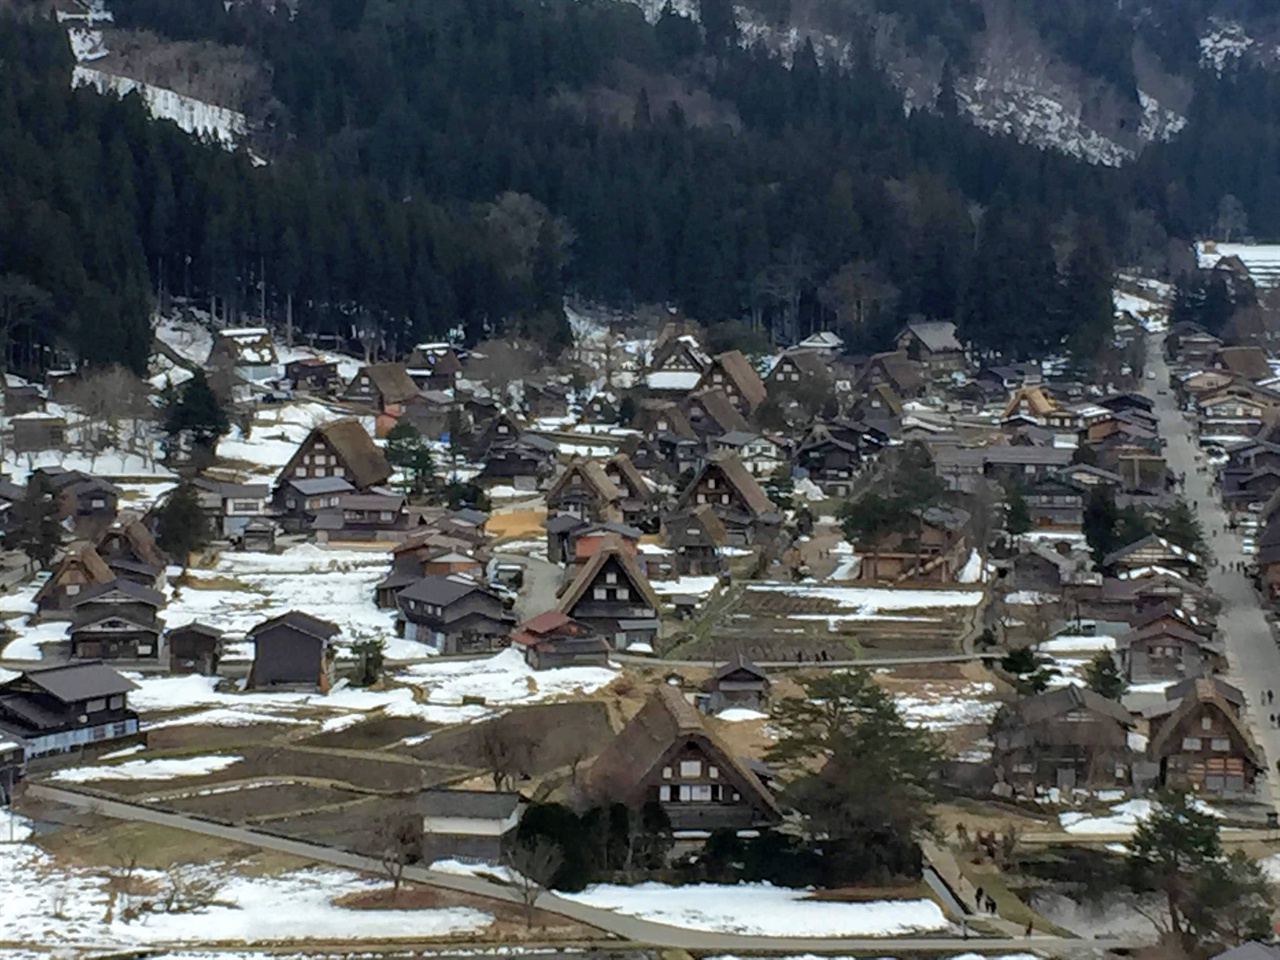
<instances>
[{"instance_id":1,"label":"brown thatched roof of the largest foreground house","mask_svg":"<svg viewBox=\"0 0 1280 960\"><path fill-rule=\"evenodd\" d=\"M662 684L613 740L595 758L585 778L586 792L598 800L635 801L636 786L646 780L668 753L692 740L701 745L745 791L744 799L769 819L781 819L773 794L704 724L703 717L669 684Z\"/></svg>"}]
</instances>

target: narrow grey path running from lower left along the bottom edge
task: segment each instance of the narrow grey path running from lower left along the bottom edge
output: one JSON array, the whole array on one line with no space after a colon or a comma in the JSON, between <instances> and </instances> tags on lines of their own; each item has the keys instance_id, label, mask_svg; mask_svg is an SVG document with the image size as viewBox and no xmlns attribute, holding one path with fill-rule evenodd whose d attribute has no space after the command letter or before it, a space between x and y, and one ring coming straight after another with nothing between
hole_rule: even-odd
<instances>
[{"instance_id":1,"label":"narrow grey path running from lower left along the bottom edge","mask_svg":"<svg viewBox=\"0 0 1280 960\"><path fill-rule=\"evenodd\" d=\"M291 840L271 833L264 833L244 827L234 827L225 823L215 823L184 814L165 813L154 810L138 804L120 803L118 800L105 800L61 787L52 787L45 783L31 783L27 787L27 796L32 800L45 800L67 804L102 817L116 819L140 820L154 823L175 829L186 829L210 837L219 837L236 844L246 844L262 850L274 850L282 854L291 854L306 860L334 864L364 873L381 874L383 868L374 858L337 850L334 847L308 844L301 840ZM410 867L404 872L404 878L417 883L428 883L447 890L463 893L503 900L507 902L520 902L518 897L506 886L475 877L458 877L448 873L436 873L421 867ZM780 952L804 954L813 951L845 952L845 951L924 951L960 954L966 950L982 948L983 951L1019 951L1027 948L1043 950L1055 957L1084 957L1096 956L1102 951L1100 945L1089 941L1066 940L1062 937L1006 937L1006 938L974 938L963 940L960 937L899 937L899 938L817 938L817 937L753 937L736 933L707 933L690 931L680 927L668 927L652 920L643 920L634 916L623 916L612 910L599 910L593 906L564 900L553 893L544 893L538 906L543 910L568 916L579 923L595 927L607 933L632 943L646 943L657 947L678 947L682 950L698 951L746 951L746 952ZM189 945L188 945L189 946ZM1107 947L1138 946L1124 941L1106 941ZM879 954L878 954L879 955Z\"/></svg>"}]
</instances>

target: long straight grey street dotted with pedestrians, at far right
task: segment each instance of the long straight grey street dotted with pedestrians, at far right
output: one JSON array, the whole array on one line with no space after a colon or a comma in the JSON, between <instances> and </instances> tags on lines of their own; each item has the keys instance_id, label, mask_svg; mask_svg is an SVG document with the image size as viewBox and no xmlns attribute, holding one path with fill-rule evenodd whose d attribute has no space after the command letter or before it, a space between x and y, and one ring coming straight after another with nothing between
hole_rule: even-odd
<instances>
[{"instance_id":1,"label":"long straight grey street dotted with pedestrians, at far right","mask_svg":"<svg viewBox=\"0 0 1280 960\"><path fill-rule=\"evenodd\" d=\"M1199 517L1213 550L1216 566L1210 570L1208 585L1222 602L1217 628L1226 644L1226 678L1244 691L1248 701L1245 717L1266 755L1266 787L1258 790L1258 800L1280 809L1274 765L1280 759L1280 730L1270 722L1272 713L1280 713L1280 704L1261 703L1265 690L1280 690L1280 648L1271 635L1253 584L1244 573L1231 570L1238 561L1249 558L1240 552L1239 538L1226 530L1226 512L1217 494L1210 489L1211 474L1197 471L1203 460L1194 443L1194 426L1178 410L1178 401L1169 388L1164 344L1153 337L1147 338L1147 370L1156 374L1144 385L1160 416L1160 435L1167 442L1165 462L1175 474L1187 476L1183 495ZM1222 572L1221 564L1226 564L1228 572Z\"/></svg>"}]
</instances>

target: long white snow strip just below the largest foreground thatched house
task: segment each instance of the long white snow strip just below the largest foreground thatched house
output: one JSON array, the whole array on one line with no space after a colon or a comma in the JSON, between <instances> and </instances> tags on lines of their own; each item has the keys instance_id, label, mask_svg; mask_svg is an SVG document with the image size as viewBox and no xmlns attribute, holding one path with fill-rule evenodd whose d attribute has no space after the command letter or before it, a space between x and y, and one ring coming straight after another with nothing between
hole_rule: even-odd
<instances>
[{"instance_id":1,"label":"long white snow strip just below the largest foreground thatched house","mask_svg":"<svg viewBox=\"0 0 1280 960\"><path fill-rule=\"evenodd\" d=\"M561 896L673 927L762 937L895 937L950 927L932 900L806 900L808 891L768 883L600 883Z\"/></svg>"}]
</instances>

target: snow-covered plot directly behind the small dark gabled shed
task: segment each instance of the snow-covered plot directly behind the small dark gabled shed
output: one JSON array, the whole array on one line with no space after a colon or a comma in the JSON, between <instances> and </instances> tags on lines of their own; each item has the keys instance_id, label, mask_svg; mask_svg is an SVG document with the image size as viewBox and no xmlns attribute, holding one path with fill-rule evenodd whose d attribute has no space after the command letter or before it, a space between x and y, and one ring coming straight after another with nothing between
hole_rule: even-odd
<instances>
[{"instance_id":1,"label":"snow-covered plot directly behind the small dark gabled shed","mask_svg":"<svg viewBox=\"0 0 1280 960\"><path fill-rule=\"evenodd\" d=\"M384 550L302 544L279 554L227 552L211 568L188 571L191 582L173 590L164 616L170 625L198 620L236 635L302 611L337 623L347 641L385 637L392 614L374 604L374 586L388 567ZM252 657L251 648L239 653Z\"/></svg>"}]
</instances>

